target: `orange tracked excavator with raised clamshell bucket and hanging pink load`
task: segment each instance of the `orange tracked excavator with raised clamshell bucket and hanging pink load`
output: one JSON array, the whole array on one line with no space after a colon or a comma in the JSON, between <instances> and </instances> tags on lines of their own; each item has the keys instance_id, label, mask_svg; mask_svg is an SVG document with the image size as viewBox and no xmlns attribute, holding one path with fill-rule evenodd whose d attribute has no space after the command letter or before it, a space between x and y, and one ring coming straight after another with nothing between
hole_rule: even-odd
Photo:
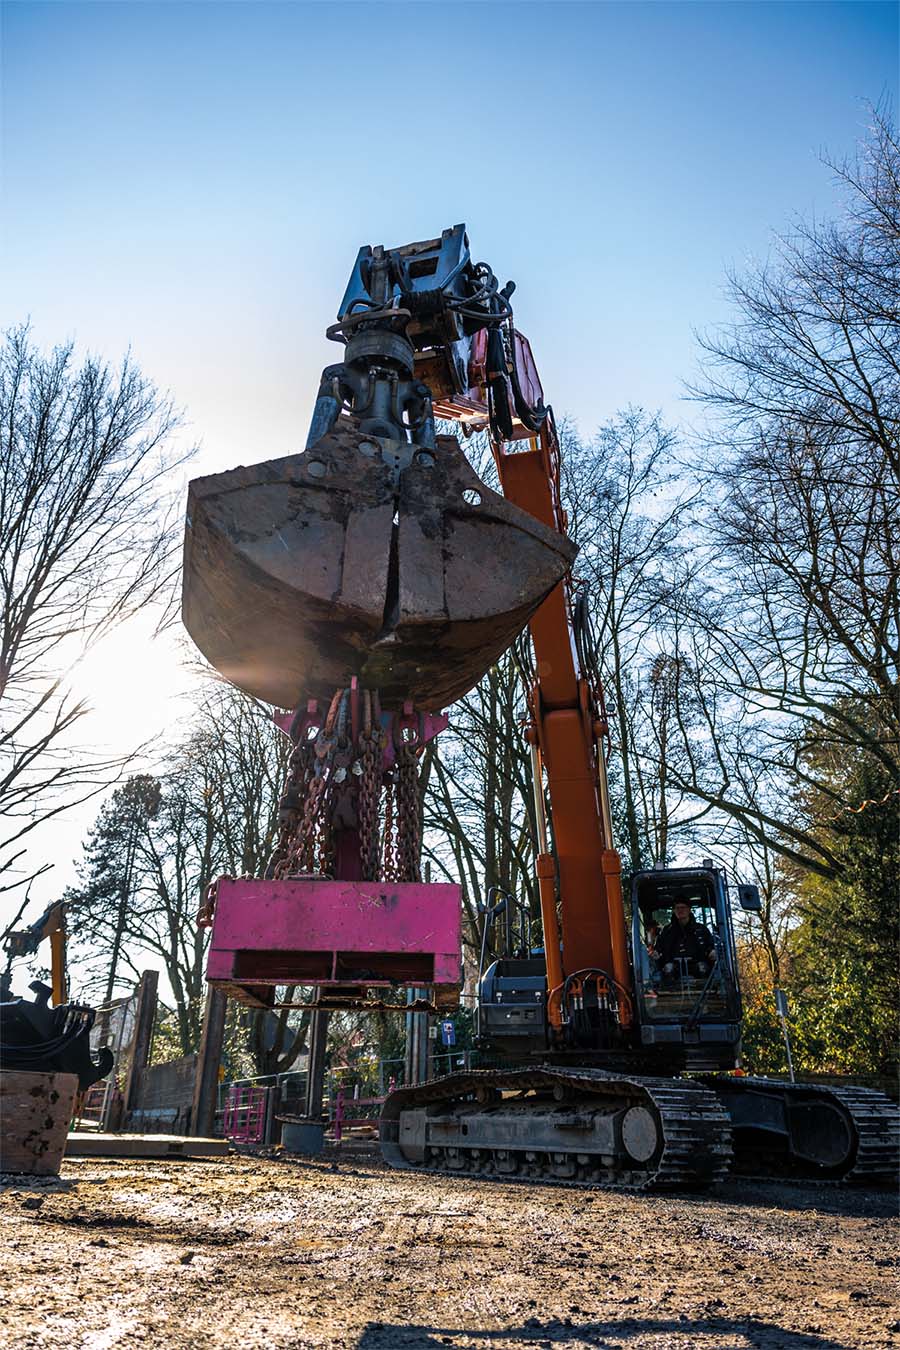
<instances>
[{"instance_id":1,"label":"orange tracked excavator with raised clamshell bucket and hanging pink load","mask_svg":"<svg viewBox=\"0 0 900 1350\"><path fill-rule=\"evenodd\" d=\"M490 1066L394 1089L383 1157L630 1189L703 1188L730 1169L892 1176L888 1098L741 1075L725 872L707 859L623 883L560 439L514 289L474 262L461 224L360 248L305 450L190 485L185 624L225 678L285 710L291 745L264 875L205 894L208 980L256 1007L285 1006L285 987L318 1010L456 1004L461 896L421 876L418 765L445 707L528 626L541 941L514 896L490 906ZM501 493L439 420L487 435ZM735 890L758 911L756 887ZM663 960L660 930L677 938L677 923L703 950L683 941ZM397 1002L405 988L413 1003Z\"/></svg>"}]
</instances>

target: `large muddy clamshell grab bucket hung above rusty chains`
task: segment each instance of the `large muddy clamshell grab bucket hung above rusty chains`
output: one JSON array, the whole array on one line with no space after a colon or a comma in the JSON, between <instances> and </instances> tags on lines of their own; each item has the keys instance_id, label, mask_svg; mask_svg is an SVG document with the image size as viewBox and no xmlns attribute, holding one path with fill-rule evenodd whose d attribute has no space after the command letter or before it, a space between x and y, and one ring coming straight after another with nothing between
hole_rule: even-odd
<instances>
[{"instance_id":1,"label":"large muddy clamshell grab bucket hung above rusty chains","mask_svg":"<svg viewBox=\"0 0 900 1350\"><path fill-rule=\"evenodd\" d=\"M486 487L455 436L428 450L341 418L312 450L190 485L182 614L220 674L278 707L355 675L385 706L439 709L575 552Z\"/></svg>"}]
</instances>

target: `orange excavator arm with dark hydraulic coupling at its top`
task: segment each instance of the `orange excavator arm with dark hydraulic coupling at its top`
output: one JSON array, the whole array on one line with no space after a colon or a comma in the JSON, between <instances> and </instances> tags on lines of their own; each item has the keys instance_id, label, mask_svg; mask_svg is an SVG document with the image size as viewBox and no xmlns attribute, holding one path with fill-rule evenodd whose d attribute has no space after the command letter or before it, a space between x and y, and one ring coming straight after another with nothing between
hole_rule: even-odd
<instances>
[{"instance_id":1,"label":"orange excavator arm with dark hydraulic coupling at its top","mask_svg":"<svg viewBox=\"0 0 900 1350\"><path fill-rule=\"evenodd\" d=\"M487 431L505 498L565 536L559 437L530 344L514 325L514 289L511 282L501 288L487 265L472 263L466 227L456 225L440 239L390 252L360 250L339 323L329 332L347 333L348 358L355 358L356 335L367 321L366 358L371 359L379 340L386 356L390 343L386 336L371 336L372 315L391 316L387 321L394 327L394 315L409 315L405 333L413 347L414 379L420 381L420 401L410 413L417 435L432 433L433 413L461 423L468 433ZM370 371L367 390L371 381ZM360 383L354 359L327 370L313 416L313 444L340 409L358 410L354 396ZM375 404L374 397L370 401ZM382 397L378 409L385 406ZM397 423L363 421L360 427L397 433ZM603 981L625 1027L631 1021L631 976L606 783L607 728L596 672L580 668L568 572L532 616L530 634L536 662L528 740L541 837L537 876L549 1019L559 1031L565 981L578 976L583 984L590 976ZM544 822L544 772L555 855Z\"/></svg>"}]
</instances>

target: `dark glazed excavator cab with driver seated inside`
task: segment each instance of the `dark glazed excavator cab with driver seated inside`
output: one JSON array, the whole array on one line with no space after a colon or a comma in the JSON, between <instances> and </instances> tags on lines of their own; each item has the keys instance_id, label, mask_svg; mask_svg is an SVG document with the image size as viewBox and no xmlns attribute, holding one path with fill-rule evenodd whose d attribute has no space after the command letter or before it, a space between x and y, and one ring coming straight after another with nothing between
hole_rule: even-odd
<instances>
[{"instance_id":1,"label":"dark glazed excavator cab with driver seated inside","mask_svg":"<svg viewBox=\"0 0 900 1350\"><path fill-rule=\"evenodd\" d=\"M688 944L675 941L684 906L696 934ZM631 944L641 1044L661 1061L734 1068L741 995L725 872L711 863L636 872Z\"/></svg>"}]
</instances>

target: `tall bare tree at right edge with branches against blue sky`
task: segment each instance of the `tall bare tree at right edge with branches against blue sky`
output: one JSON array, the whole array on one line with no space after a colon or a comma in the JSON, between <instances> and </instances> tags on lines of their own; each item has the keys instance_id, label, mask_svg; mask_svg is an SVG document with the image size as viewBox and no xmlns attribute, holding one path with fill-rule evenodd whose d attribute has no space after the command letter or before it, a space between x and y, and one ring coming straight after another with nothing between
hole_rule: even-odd
<instances>
[{"instance_id":1,"label":"tall bare tree at right edge with branches against blue sky","mask_svg":"<svg viewBox=\"0 0 900 1350\"><path fill-rule=\"evenodd\" d=\"M712 753L700 764L683 736L679 775L824 878L841 863L808 802L828 815L855 803L853 779L820 767L861 752L900 774L900 144L887 119L838 177L843 217L799 224L770 263L733 277L738 321L704 342L700 396L722 435L684 655Z\"/></svg>"}]
</instances>

